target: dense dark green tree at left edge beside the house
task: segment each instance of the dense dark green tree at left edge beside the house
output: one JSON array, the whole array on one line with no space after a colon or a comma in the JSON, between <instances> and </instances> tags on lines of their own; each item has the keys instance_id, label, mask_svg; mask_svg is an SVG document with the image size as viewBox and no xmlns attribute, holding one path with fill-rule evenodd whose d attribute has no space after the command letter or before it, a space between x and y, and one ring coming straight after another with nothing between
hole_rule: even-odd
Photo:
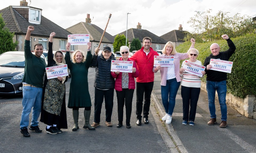
<instances>
[{"instance_id":1,"label":"dense dark green tree at left edge beside the house","mask_svg":"<svg viewBox=\"0 0 256 153\"><path fill-rule=\"evenodd\" d=\"M5 22L0 14L0 54L7 51L14 51L18 42L13 42L14 32L10 32L8 28L4 28Z\"/></svg>"}]
</instances>

